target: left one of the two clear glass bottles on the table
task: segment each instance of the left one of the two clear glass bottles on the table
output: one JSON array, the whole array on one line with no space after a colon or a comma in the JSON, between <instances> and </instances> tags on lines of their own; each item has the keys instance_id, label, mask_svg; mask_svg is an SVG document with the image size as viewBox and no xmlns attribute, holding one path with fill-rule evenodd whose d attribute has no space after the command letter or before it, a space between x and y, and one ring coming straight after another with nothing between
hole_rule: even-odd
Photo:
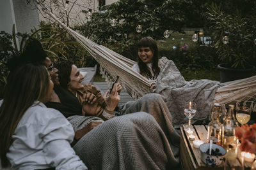
<instances>
[{"instance_id":1,"label":"left one of the two clear glass bottles on the table","mask_svg":"<svg viewBox=\"0 0 256 170\"><path fill-rule=\"evenodd\" d=\"M211 122L207 128L207 142L212 140L212 143L221 145L221 123L220 123L221 106L219 103L214 103L211 112Z\"/></svg>"}]
</instances>

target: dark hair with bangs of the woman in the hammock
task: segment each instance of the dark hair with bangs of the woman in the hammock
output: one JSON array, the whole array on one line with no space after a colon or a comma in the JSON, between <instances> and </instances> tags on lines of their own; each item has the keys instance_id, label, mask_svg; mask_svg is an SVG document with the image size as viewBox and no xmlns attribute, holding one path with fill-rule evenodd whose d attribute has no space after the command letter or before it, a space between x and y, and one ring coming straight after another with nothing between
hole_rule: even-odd
<instances>
[{"instance_id":1,"label":"dark hair with bangs of the woman in the hammock","mask_svg":"<svg viewBox=\"0 0 256 170\"><path fill-rule=\"evenodd\" d=\"M150 50L152 50L153 52L152 71L154 75L151 75L150 71L148 70L147 64L144 63L140 59L140 57L139 57L138 66L140 68L141 75L153 80L156 79L158 74L160 73L160 69L158 67L158 48L157 48L156 41L150 36L147 36L147 37L141 38L140 41L138 41L137 47L138 48L149 47Z\"/></svg>"}]
</instances>

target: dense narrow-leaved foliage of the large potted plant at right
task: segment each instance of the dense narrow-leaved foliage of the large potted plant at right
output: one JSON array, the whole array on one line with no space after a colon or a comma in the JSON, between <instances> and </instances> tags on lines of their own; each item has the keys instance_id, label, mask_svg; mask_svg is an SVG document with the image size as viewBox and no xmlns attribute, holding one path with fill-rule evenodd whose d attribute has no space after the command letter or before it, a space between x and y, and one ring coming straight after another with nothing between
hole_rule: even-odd
<instances>
[{"instance_id":1,"label":"dense narrow-leaved foliage of the large potted plant at right","mask_svg":"<svg viewBox=\"0 0 256 170\"><path fill-rule=\"evenodd\" d=\"M244 69L248 64L256 63L256 15L241 17L237 10L233 15L227 15L221 6L211 4L207 6L205 17L210 22L210 30L216 52L221 62L229 67ZM229 42L222 43L222 38L228 32Z\"/></svg>"}]
</instances>

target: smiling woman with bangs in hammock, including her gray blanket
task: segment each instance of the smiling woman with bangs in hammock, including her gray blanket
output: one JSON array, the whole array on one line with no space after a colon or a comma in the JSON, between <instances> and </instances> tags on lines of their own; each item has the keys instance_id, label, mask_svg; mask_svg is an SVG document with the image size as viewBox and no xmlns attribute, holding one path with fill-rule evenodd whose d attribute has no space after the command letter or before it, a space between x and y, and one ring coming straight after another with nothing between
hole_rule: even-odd
<instances>
[{"instance_id":1,"label":"smiling woman with bangs in hammock, including her gray blanket","mask_svg":"<svg viewBox=\"0 0 256 170\"><path fill-rule=\"evenodd\" d=\"M138 57L138 64L134 64L132 69L156 83L154 92L166 97L166 105L172 114L175 128L188 122L184 115L186 101L195 101L197 105L196 115L191 122L208 117L215 92L221 86L220 82L184 80L172 60L166 57L159 59L156 41L151 37L138 41Z\"/></svg>"}]
</instances>

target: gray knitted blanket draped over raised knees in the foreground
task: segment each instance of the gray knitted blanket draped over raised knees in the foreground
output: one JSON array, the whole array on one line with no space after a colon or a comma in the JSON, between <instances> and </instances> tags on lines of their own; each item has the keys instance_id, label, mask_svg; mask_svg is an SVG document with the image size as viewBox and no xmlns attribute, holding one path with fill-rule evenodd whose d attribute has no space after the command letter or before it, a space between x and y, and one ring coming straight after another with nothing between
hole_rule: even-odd
<instances>
[{"instance_id":1,"label":"gray knitted blanket draped over raised knees in the foreground","mask_svg":"<svg viewBox=\"0 0 256 170\"><path fill-rule=\"evenodd\" d=\"M118 109L119 116L100 124L74 146L89 169L173 169L179 165L180 136L161 95L147 94ZM76 130L93 119L99 118L74 116L68 121Z\"/></svg>"}]
</instances>

